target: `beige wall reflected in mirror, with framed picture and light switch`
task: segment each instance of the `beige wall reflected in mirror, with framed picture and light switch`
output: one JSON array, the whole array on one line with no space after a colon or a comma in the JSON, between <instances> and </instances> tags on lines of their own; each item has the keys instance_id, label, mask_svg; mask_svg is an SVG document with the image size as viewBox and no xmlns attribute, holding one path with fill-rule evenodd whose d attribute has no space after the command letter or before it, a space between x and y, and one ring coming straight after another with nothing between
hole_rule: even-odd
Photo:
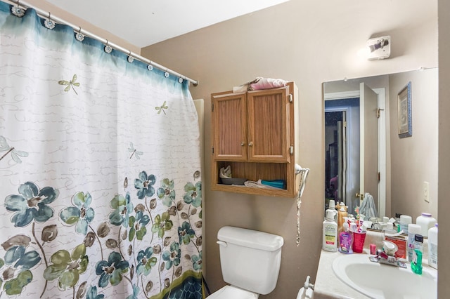
<instances>
[{"instance_id":1,"label":"beige wall reflected in mirror, with framed picture and light switch","mask_svg":"<svg viewBox=\"0 0 450 299\"><path fill-rule=\"evenodd\" d=\"M437 115L438 70L390 76L390 152L392 213L411 215L413 222L422 212L437 218ZM397 93L411 81L413 135L399 138ZM430 183L430 203L423 200L423 182Z\"/></svg>"}]
</instances>

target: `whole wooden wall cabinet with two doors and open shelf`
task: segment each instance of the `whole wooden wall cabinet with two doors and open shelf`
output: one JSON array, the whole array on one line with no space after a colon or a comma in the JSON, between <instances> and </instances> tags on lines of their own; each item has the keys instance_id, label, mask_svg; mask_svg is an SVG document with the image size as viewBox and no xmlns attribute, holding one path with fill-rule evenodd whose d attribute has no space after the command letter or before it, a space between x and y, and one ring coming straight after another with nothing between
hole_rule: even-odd
<instances>
[{"instance_id":1,"label":"whole wooden wall cabinet with two doors and open shelf","mask_svg":"<svg viewBox=\"0 0 450 299\"><path fill-rule=\"evenodd\" d=\"M246 93L212 93L212 190L296 197L298 180L297 86ZM278 180L286 189L224 185L220 168L233 178Z\"/></svg>"}]
</instances>

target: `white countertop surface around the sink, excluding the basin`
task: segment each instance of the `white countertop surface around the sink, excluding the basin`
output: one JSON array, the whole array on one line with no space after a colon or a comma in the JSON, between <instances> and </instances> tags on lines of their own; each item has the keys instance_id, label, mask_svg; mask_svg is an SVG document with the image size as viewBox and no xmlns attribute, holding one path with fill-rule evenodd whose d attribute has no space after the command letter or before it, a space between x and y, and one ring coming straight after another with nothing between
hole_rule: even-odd
<instances>
[{"instance_id":1,"label":"white countertop surface around the sink, excluding the basin","mask_svg":"<svg viewBox=\"0 0 450 299\"><path fill-rule=\"evenodd\" d=\"M368 231L366 241L364 242L363 253L370 253L370 244L375 244L377 248L382 247L383 234L380 232ZM423 267L428 267L428 241L425 239L423 244ZM369 297L359 293L350 286L347 286L343 281L335 276L333 272L333 260L339 258L344 253L321 251L319 259L319 267L317 268L316 281L314 283L314 299L368 299Z\"/></svg>"}]
</instances>

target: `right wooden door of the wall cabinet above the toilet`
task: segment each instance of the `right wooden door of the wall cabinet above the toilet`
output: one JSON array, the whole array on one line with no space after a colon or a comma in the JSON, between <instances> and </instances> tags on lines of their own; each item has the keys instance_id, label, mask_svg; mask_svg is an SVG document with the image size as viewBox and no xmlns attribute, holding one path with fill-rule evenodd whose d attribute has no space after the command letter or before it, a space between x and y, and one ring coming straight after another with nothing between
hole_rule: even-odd
<instances>
[{"instance_id":1,"label":"right wooden door of the wall cabinet above the toilet","mask_svg":"<svg viewBox=\"0 0 450 299\"><path fill-rule=\"evenodd\" d=\"M249 161L289 162L289 86L248 92Z\"/></svg>"}]
</instances>

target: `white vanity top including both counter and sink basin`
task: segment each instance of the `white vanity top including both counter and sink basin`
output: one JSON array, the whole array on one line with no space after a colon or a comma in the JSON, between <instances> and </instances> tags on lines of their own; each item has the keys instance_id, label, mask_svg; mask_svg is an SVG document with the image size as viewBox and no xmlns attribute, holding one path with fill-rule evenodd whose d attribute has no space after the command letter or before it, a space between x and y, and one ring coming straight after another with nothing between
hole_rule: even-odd
<instances>
[{"instance_id":1,"label":"white vanity top including both counter and sink basin","mask_svg":"<svg viewBox=\"0 0 450 299\"><path fill-rule=\"evenodd\" d=\"M407 265L406 269L394 267L391 265L380 265L378 263L373 263L368 260L369 246L370 244L375 244L377 248L381 248L381 242L383 241L383 234L380 232L368 231L366 236L366 242L364 244L363 253L353 253L345 255L343 253L321 251L321 256L319 260L319 267L317 270L316 281L314 284L314 298L316 299L330 299L330 298L354 298L354 299L367 299L367 298L399 298L398 294L402 294L400 298L403 297L403 293L411 292L413 288L416 288L416 293L414 293L414 298L437 298L437 270L428 266L427 251L428 242L425 239L423 248L423 274L414 274L411 271L411 266ZM349 263L340 263L343 259L349 260ZM333 270L333 263L339 262L338 270ZM354 263L353 265L351 263ZM360 288L360 291L350 285L352 281L344 282L342 277L348 271L355 271L357 263L365 263L366 268L360 269L371 269L362 270L361 274L358 274L359 280L363 281L360 286L355 286ZM358 265L358 267L361 265ZM378 266L378 267L371 267ZM344 269L347 267L347 269ZM340 274L336 274L340 272ZM340 275L340 277L338 277ZM373 279L371 275L375 275L377 279ZM383 279L388 279L390 286L383 283ZM391 284L392 282L392 284ZM363 284L365 286L363 286ZM364 295L365 289L374 289L374 293L377 289L383 290L383 295L371 295L366 293ZM390 293L390 290L396 292L397 295ZM420 292L425 295L420 296Z\"/></svg>"}]
</instances>

